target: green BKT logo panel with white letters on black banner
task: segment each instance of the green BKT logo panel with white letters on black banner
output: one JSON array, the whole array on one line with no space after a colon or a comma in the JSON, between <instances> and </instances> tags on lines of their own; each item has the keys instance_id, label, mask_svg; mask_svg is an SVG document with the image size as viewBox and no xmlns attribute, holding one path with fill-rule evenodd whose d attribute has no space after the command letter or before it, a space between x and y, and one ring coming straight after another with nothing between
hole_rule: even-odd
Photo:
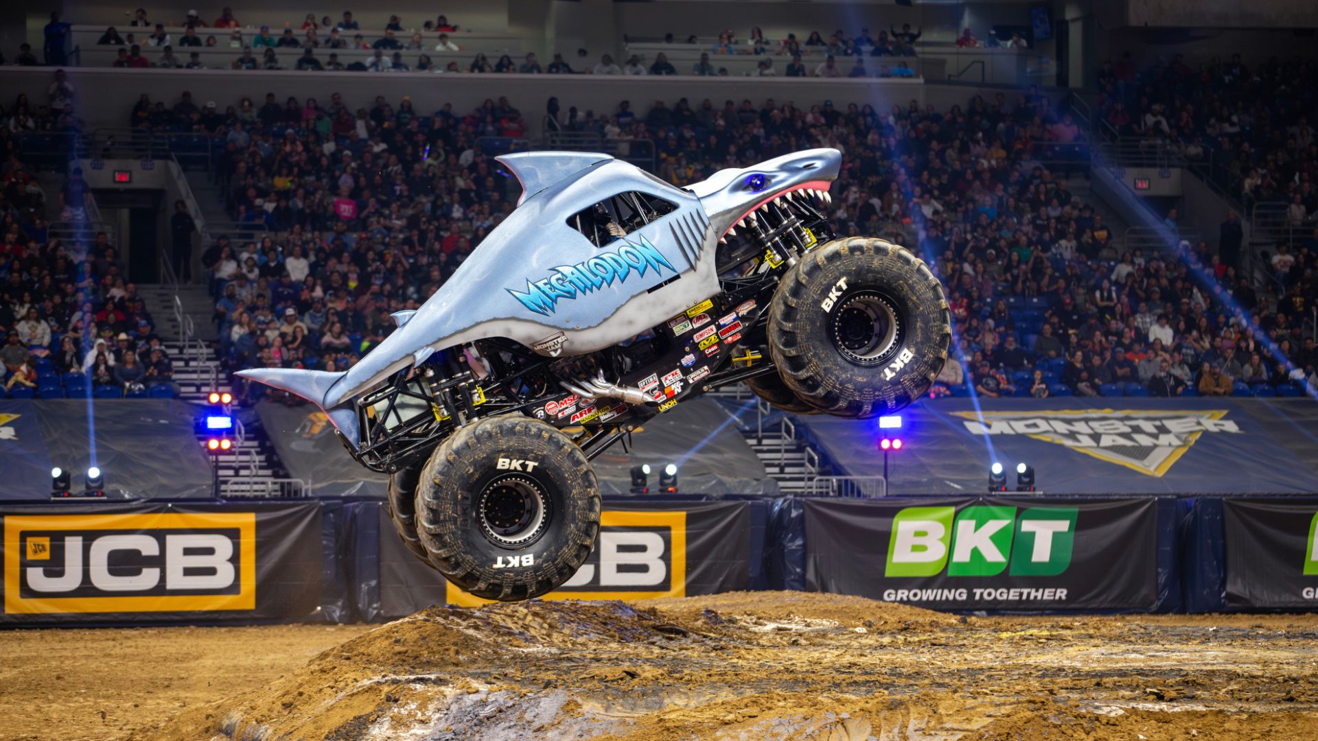
<instances>
[{"instance_id":1,"label":"green BKT logo panel with white letters on black banner","mask_svg":"<svg viewBox=\"0 0 1318 741\"><path fill-rule=\"evenodd\" d=\"M884 576L1056 576L1070 566L1077 508L911 506L892 518Z\"/></svg>"}]
</instances>

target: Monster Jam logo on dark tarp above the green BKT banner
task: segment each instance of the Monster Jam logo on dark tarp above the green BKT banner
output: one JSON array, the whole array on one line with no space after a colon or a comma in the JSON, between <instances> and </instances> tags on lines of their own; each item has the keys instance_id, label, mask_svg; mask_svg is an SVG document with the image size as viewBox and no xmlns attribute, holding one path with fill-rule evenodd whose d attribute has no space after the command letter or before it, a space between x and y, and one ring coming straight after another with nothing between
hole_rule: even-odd
<instances>
[{"instance_id":1,"label":"Monster Jam logo on dark tarp above the green BKT banner","mask_svg":"<svg viewBox=\"0 0 1318 741\"><path fill-rule=\"evenodd\" d=\"M1024 435L1148 476L1162 476L1205 432L1238 434L1226 410L954 411L974 435Z\"/></svg>"}]
</instances>

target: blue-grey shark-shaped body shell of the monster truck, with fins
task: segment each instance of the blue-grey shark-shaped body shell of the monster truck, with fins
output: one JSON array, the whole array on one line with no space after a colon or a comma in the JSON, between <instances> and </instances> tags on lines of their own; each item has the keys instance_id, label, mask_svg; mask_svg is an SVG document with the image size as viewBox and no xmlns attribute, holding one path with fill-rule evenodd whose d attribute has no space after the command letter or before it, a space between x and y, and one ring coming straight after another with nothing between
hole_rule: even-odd
<instances>
[{"instance_id":1,"label":"blue-grey shark-shaped body shell of the monster truck, with fins","mask_svg":"<svg viewBox=\"0 0 1318 741\"><path fill-rule=\"evenodd\" d=\"M714 264L724 235L778 198L826 195L841 153L786 154L720 170L687 189L608 154L532 152L498 161L523 186L518 207L420 309L398 312L398 330L356 365L340 373L262 368L239 376L315 402L356 444L351 402L438 349L507 338L546 356L583 355L718 294ZM569 224L623 193L675 208L598 247Z\"/></svg>"}]
</instances>

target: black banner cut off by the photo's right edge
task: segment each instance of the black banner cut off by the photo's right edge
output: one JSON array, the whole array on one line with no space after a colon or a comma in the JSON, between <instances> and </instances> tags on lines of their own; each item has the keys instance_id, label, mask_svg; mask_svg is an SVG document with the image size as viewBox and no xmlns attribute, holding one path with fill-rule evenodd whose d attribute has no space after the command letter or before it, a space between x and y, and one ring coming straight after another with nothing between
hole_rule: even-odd
<instances>
[{"instance_id":1,"label":"black banner cut off by the photo's right edge","mask_svg":"<svg viewBox=\"0 0 1318 741\"><path fill-rule=\"evenodd\" d=\"M1224 500L1230 608L1318 608L1318 500Z\"/></svg>"}]
</instances>

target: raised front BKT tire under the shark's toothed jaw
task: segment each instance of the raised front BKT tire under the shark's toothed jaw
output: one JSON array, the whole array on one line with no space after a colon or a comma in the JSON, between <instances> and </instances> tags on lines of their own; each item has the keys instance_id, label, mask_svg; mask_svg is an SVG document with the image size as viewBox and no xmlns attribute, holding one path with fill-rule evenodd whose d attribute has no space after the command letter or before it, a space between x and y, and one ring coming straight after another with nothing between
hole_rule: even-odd
<instances>
[{"instance_id":1,"label":"raised front BKT tire under the shark's toothed jaw","mask_svg":"<svg viewBox=\"0 0 1318 741\"><path fill-rule=\"evenodd\" d=\"M920 398L950 343L937 278L880 239L833 240L807 252L768 309L768 349L783 384L837 417L878 417Z\"/></svg>"}]
</instances>

